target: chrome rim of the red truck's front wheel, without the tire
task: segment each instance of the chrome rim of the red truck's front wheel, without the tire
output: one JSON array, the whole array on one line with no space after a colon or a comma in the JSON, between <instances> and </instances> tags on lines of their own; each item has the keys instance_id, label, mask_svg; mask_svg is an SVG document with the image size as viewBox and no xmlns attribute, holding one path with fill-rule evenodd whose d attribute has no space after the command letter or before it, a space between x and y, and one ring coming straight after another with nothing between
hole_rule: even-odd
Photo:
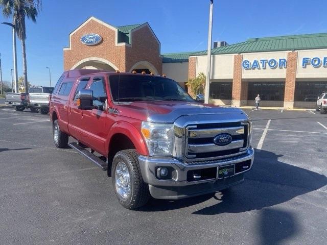
<instances>
[{"instance_id":1,"label":"chrome rim of the red truck's front wheel, without the tire","mask_svg":"<svg viewBox=\"0 0 327 245\"><path fill-rule=\"evenodd\" d=\"M124 162L119 162L115 171L116 190L123 199L127 199L131 192L131 178Z\"/></svg>"}]
</instances>

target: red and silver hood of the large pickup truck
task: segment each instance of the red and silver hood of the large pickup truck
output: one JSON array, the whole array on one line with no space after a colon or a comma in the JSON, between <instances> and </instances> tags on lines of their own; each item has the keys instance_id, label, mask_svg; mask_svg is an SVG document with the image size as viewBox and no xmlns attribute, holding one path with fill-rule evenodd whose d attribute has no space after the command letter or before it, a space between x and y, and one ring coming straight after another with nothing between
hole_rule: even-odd
<instances>
[{"instance_id":1,"label":"red and silver hood of the large pickup truck","mask_svg":"<svg viewBox=\"0 0 327 245\"><path fill-rule=\"evenodd\" d=\"M181 101L146 101L120 104L120 115L151 122L172 123L185 115L244 114L239 108Z\"/></svg>"}]
</instances>

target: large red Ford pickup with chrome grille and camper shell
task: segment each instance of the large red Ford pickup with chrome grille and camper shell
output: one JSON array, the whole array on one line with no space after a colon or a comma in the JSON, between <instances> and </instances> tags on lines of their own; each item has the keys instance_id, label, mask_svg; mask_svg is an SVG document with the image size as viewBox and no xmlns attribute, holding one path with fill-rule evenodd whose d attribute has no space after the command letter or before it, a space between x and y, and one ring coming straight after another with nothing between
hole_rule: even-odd
<instances>
[{"instance_id":1,"label":"large red Ford pickup with chrome grille and camper shell","mask_svg":"<svg viewBox=\"0 0 327 245\"><path fill-rule=\"evenodd\" d=\"M251 122L238 108L194 101L163 76L69 70L50 101L53 139L112 177L128 209L213 193L244 181L253 164ZM96 154L95 154L96 153Z\"/></svg>"}]
</instances>

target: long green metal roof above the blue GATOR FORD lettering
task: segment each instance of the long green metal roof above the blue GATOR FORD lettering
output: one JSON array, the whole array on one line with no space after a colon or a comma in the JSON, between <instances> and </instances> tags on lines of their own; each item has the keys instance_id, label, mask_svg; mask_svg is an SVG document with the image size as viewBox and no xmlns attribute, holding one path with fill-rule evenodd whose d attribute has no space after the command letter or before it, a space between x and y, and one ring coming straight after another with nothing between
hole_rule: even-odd
<instances>
[{"instance_id":1,"label":"long green metal roof above the blue GATOR FORD lettering","mask_svg":"<svg viewBox=\"0 0 327 245\"><path fill-rule=\"evenodd\" d=\"M212 49L212 54L238 54L287 50L310 50L314 48L327 48L327 33L291 35L279 37L249 38L245 42L235 43ZM206 55L207 51L193 55Z\"/></svg>"}]
</instances>

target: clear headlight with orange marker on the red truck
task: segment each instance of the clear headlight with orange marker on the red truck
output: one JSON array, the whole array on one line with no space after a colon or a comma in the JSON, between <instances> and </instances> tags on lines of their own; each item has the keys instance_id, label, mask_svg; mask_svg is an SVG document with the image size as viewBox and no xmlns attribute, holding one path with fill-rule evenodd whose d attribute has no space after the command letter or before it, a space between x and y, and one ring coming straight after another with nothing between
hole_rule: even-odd
<instances>
[{"instance_id":1,"label":"clear headlight with orange marker on the red truck","mask_svg":"<svg viewBox=\"0 0 327 245\"><path fill-rule=\"evenodd\" d=\"M172 156L174 128L172 124L142 122L141 132L147 142L150 156Z\"/></svg>"}]
</instances>

